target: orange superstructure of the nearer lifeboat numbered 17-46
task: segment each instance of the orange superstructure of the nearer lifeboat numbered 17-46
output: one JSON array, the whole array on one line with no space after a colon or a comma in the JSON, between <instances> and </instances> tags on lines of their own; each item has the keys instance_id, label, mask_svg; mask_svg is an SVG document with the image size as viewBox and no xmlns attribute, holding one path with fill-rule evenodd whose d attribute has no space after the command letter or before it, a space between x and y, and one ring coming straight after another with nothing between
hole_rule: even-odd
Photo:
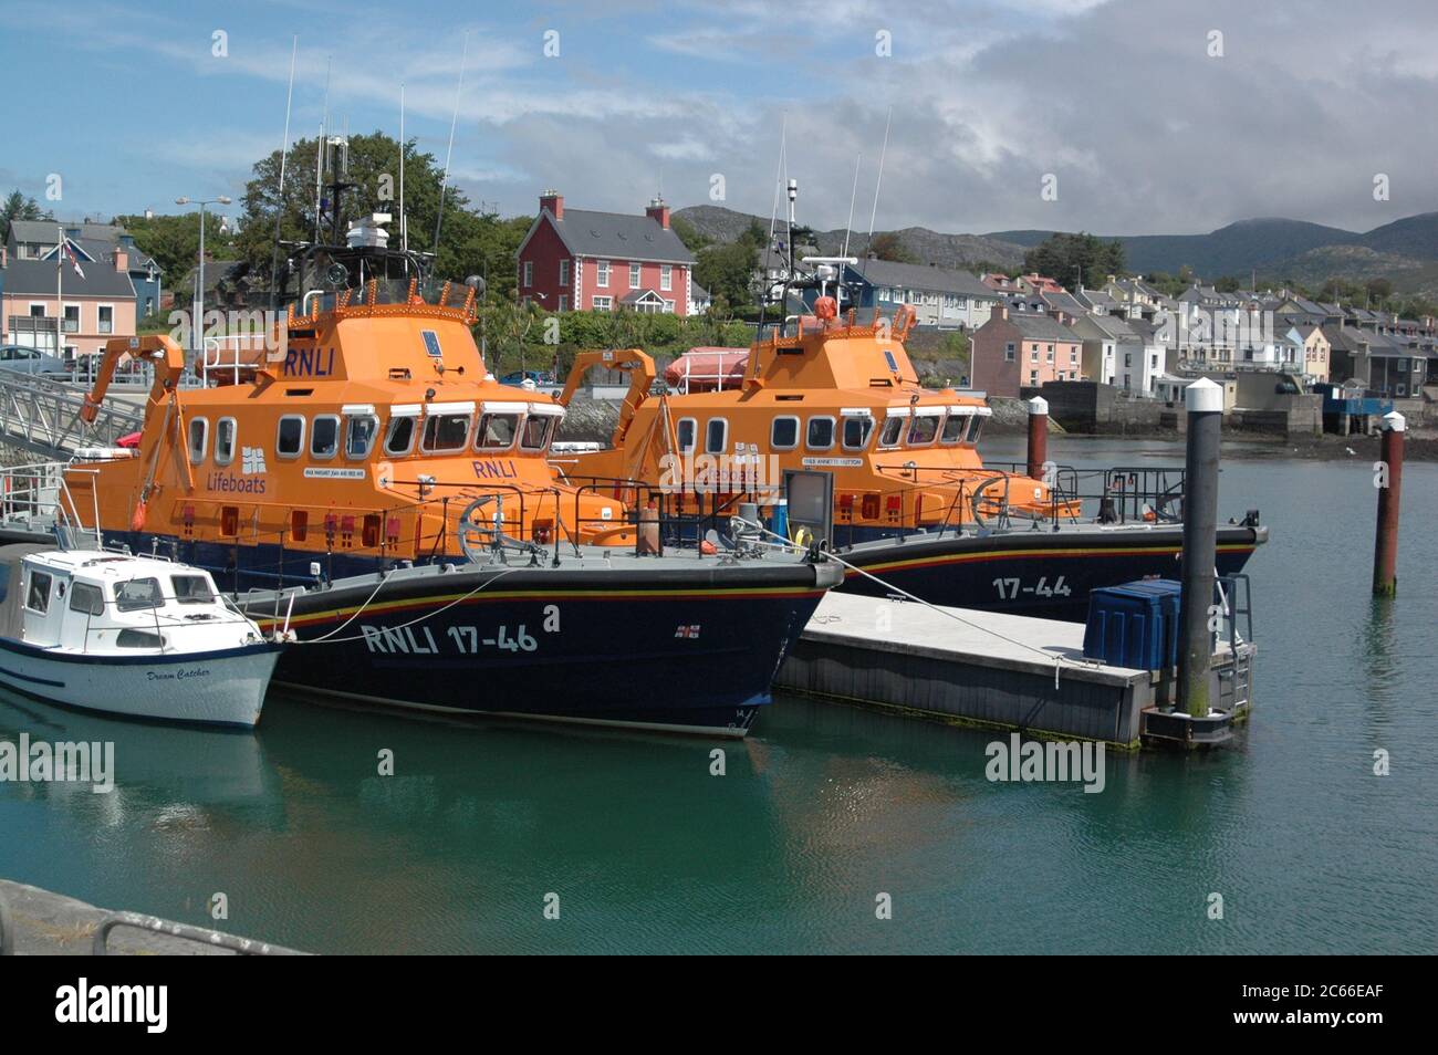
<instances>
[{"instance_id":1,"label":"orange superstructure of the nearer lifeboat numbered 17-46","mask_svg":"<svg viewBox=\"0 0 1438 1055\"><path fill-rule=\"evenodd\" d=\"M278 553L280 573L319 553L349 568L459 556L496 533L633 543L623 503L548 466L564 410L487 374L473 293L446 285L434 300L411 282L383 303L371 282L290 309L265 351L211 387L181 385L170 338L111 341L89 404L124 355L151 362L154 384L138 447L70 473L78 505L93 489L106 533L196 543L210 565L224 550L237 568Z\"/></svg>"}]
</instances>

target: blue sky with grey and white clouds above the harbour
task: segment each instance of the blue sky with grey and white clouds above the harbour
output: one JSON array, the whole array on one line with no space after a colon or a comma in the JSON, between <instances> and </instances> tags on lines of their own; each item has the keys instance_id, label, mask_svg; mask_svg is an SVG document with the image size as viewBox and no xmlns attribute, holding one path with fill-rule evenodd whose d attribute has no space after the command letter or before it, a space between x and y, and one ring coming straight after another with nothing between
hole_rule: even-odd
<instances>
[{"instance_id":1,"label":"blue sky with grey and white clouds above the harbour","mask_svg":"<svg viewBox=\"0 0 1438 1055\"><path fill-rule=\"evenodd\" d=\"M722 175L715 204L768 216L787 122L800 220L844 224L857 161L864 229L890 112L880 229L1368 230L1438 208L1432 0L4 0L0 193L59 174L63 217L237 195L280 145L295 34L292 137L318 129L329 70L352 131L395 134L404 82L407 132L441 160L467 40L452 178L506 214L549 185L703 204Z\"/></svg>"}]
</instances>

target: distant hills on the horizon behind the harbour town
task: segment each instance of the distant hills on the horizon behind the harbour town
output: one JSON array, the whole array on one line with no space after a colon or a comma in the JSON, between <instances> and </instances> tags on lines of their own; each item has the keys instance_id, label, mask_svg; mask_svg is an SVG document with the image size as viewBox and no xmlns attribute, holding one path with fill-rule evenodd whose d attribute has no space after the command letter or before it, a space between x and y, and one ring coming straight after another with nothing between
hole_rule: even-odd
<instances>
[{"instance_id":1,"label":"distant hills on the horizon behind the harbour town","mask_svg":"<svg viewBox=\"0 0 1438 1055\"><path fill-rule=\"evenodd\" d=\"M716 241L733 241L765 217L752 217L718 206L680 208L676 216L689 220ZM919 263L962 267L994 263L1021 267L1024 254L1054 234L1045 230L1009 230L989 234L943 234L928 227L906 227L894 234ZM1130 272L1176 275L1188 266L1206 280L1224 275L1247 279L1252 272L1270 282L1290 279L1303 285L1322 285L1329 277L1362 280L1389 277L1396 289L1438 296L1438 213L1422 213L1376 227L1366 234L1340 227L1261 217L1240 220L1208 234L1130 234L1123 243ZM837 253L844 231L815 234L821 253ZM866 236L850 237L848 252L863 256ZM1432 266L1429 266L1432 264Z\"/></svg>"}]
</instances>

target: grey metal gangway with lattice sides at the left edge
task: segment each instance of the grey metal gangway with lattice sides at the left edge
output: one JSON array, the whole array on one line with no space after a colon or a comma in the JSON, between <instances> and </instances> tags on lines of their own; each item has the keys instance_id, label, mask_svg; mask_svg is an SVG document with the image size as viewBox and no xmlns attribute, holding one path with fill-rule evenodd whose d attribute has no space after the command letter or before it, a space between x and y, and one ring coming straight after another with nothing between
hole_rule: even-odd
<instances>
[{"instance_id":1,"label":"grey metal gangway with lattice sides at the left edge","mask_svg":"<svg viewBox=\"0 0 1438 1055\"><path fill-rule=\"evenodd\" d=\"M82 447L114 447L144 424L147 390L108 395L95 424L81 421L85 390L39 374L0 369L0 444L69 459Z\"/></svg>"}]
</instances>

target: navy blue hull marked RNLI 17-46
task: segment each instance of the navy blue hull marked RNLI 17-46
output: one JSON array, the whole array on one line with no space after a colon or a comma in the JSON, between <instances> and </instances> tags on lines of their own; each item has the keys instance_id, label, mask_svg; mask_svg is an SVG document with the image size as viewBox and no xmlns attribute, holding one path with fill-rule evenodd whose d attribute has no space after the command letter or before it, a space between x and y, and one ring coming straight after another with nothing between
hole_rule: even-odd
<instances>
[{"instance_id":1,"label":"navy blue hull marked RNLI 17-46","mask_svg":"<svg viewBox=\"0 0 1438 1055\"><path fill-rule=\"evenodd\" d=\"M325 578L383 568L278 546L119 532L106 542L206 568L266 630L286 612L246 605L246 591L313 586L312 561ZM397 573L378 594L372 582L298 594L289 615L299 642L280 655L275 683L367 706L742 734L837 579L833 563L571 571L460 561L452 572Z\"/></svg>"}]
</instances>

